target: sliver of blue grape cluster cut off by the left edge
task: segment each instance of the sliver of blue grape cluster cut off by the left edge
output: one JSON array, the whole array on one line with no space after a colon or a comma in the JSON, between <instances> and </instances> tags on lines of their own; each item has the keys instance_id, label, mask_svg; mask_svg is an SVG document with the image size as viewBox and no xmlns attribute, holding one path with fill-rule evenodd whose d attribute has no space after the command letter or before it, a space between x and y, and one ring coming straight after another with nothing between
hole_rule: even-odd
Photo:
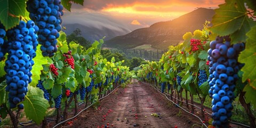
<instances>
[{"instance_id":1,"label":"sliver of blue grape cluster cut off by the left edge","mask_svg":"<svg viewBox=\"0 0 256 128\"><path fill-rule=\"evenodd\" d=\"M5 41L4 37L6 35L6 31L2 23L0 22L0 62L3 60L5 53L7 52L7 41Z\"/></svg>"}]
</instances>

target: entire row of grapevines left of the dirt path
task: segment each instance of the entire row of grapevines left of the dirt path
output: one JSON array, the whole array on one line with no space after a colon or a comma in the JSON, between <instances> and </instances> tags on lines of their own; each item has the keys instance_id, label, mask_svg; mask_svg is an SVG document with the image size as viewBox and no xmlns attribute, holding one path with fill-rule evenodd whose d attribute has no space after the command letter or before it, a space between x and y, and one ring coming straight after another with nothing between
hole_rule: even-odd
<instances>
[{"instance_id":1,"label":"entire row of grapevines left of the dirt path","mask_svg":"<svg viewBox=\"0 0 256 128\"><path fill-rule=\"evenodd\" d=\"M132 73L123 61L100 54L103 39L89 49L67 43L61 31L63 8L81 0L11 0L0 5L0 126L11 118L18 127L21 113L47 127L46 112L56 108L55 123L68 118L71 103L98 102ZM64 107L64 109L61 109ZM8 116L9 115L9 116Z\"/></svg>"}]
</instances>

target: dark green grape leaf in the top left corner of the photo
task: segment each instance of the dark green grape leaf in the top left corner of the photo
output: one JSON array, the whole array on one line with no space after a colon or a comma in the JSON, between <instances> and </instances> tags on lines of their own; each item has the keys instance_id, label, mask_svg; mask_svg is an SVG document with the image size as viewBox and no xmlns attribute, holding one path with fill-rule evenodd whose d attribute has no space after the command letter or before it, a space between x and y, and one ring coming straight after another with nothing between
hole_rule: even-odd
<instances>
[{"instance_id":1,"label":"dark green grape leaf in the top left corner of the photo","mask_svg":"<svg viewBox=\"0 0 256 128\"><path fill-rule=\"evenodd\" d=\"M19 24L19 16L26 16L24 0L0 0L0 21L8 30Z\"/></svg>"}]
</instances>

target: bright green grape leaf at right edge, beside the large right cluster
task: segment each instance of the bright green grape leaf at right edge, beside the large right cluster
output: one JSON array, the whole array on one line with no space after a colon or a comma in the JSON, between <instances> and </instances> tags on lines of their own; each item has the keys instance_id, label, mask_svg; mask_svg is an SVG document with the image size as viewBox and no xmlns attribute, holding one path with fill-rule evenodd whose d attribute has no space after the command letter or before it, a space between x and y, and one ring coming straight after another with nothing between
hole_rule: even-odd
<instances>
[{"instance_id":1,"label":"bright green grape leaf at right edge, beside the large right cluster","mask_svg":"<svg viewBox=\"0 0 256 128\"><path fill-rule=\"evenodd\" d=\"M256 87L256 26L254 26L246 35L248 36L245 50L239 54L238 62L245 63L241 69L243 74L243 82L250 79L250 86Z\"/></svg>"}]
</instances>

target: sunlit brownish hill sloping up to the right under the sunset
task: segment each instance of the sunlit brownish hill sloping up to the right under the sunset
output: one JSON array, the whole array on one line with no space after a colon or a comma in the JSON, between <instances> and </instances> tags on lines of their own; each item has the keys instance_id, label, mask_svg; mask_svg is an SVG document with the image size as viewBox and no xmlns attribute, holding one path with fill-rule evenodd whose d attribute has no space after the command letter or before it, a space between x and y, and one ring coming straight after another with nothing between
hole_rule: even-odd
<instances>
[{"instance_id":1,"label":"sunlit brownish hill sloping up to the right under the sunset","mask_svg":"<svg viewBox=\"0 0 256 128\"><path fill-rule=\"evenodd\" d=\"M105 41L107 47L132 49L136 46L150 44L155 49L167 49L177 45L182 36L196 29L203 29L205 21L211 21L213 9L198 8L172 21L157 22L148 28L140 28L123 36Z\"/></svg>"}]
</instances>

